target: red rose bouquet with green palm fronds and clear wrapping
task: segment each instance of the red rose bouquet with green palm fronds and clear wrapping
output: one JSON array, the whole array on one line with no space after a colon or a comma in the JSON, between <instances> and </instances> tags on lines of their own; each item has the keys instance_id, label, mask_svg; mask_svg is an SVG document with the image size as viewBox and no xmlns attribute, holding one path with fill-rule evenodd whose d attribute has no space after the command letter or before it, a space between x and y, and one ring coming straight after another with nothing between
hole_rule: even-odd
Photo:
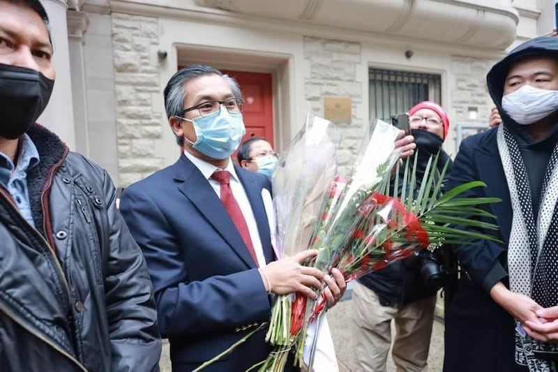
<instances>
[{"instance_id":1,"label":"red rose bouquet with green palm fronds and clear wrapping","mask_svg":"<svg viewBox=\"0 0 558 372\"><path fill-rule=\"evenodd\" d=\"M392 178L391 170L396 164L400 166L399 151L395 149L398 134L393 126L379 120L368 128L352 175L347 179L336 177L324 194L320 218L308 246L319 253L309 265L324 274L335 267L348 282L407 258L418 249L469 238L494 239L455 228L458 224L482 224L484 228L497 229L497 225L478 222L474 217L486 214L476 207L478 204L498 199L458 198L469 188L483 186L481 181L458 186L440 196L447 165L442 174L437 174L433 166L437 156L430 158L418 191L414 190L416 162L405 163L402 179L399 172ZM396 195L398 190L400 195ZM260 371L282 371L292 348L296 349L295 363L311 370L318 332L307 340L306 331L312 322L317 322L318 328L322 322L326 306L322 291L315 302L296 294L287 316L272 318L269 332L281 329L285 342L269 355Z\"/></svg>"}]
</instances>

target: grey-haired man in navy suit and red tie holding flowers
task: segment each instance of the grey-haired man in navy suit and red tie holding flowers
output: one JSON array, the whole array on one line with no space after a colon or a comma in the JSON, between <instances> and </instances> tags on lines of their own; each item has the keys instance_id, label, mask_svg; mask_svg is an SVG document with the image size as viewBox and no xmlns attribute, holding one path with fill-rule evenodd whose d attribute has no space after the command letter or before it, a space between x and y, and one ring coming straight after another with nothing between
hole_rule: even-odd
<instances>
[{"instance_id":1,"label":"grey-haired man in navy suit and red tie holding flowers","mask_svg":"<svg viewBox=\"0 0 558 372\"><path fill-rule=\"evenodd\" d=\"M209 66L183 68L165 88L169 124L184 152L174 165L126 188L121 212L145 255L173 371L192 371L269 320L272 293L329 306L345 292L340 272L304 267L304 251L276 260L264 199L267 177L234 166L244 133L236 82ZM270 348L265 330L205 371L245 371Z\"/></svg>"}]
</instances>

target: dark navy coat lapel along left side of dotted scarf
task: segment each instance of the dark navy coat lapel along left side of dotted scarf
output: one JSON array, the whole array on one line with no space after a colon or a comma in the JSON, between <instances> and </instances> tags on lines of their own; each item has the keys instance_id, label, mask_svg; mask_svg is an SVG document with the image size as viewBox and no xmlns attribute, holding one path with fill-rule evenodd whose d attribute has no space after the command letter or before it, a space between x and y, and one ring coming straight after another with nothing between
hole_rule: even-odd
<instances>
[{"instance_id":1,"label":"dark navy coat lapel along left side of dotted scarf","mask_svg":"<svg viewBox=\"0 0 558 372\"><path fill-rule=\"evenodd\" d=\"M498 152L496 136L487 144L479 146L478 151L475 152L475 159L479 177L488 186L485 188L485 195L490 198L502 199L502 202L490 204L490 209L497 217L497 224L504 238L504 244L507 246L511 232L511 198Z\"/></svg>"}]
</instances>

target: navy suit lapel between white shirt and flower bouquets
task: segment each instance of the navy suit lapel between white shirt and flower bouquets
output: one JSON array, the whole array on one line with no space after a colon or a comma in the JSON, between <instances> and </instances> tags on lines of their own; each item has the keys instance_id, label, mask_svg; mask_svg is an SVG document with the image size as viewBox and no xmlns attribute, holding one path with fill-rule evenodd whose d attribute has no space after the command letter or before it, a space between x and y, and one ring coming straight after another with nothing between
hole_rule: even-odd
<instances>
[{"instance_id":1,"label":"navy suit lapel between white shirt and flower bouquets","mask_svg":"<svg viewBox=\"0 0 558 372\"><path fill-rule=\"evenodd\" d=\"M266 262L273 261L273 248L271 248L271 235L269 232L269 222L267 221L266 210L264 201L262 200L262 188L257 185L253 174L249 174L244 170L235 167L236 174L239 176L248 201L252 207L254 218L257 224L257 231L259 233L259 240L262 241L262 249ZM250 177L252 176L252 177Z\"/></svg>"}]
</instances>

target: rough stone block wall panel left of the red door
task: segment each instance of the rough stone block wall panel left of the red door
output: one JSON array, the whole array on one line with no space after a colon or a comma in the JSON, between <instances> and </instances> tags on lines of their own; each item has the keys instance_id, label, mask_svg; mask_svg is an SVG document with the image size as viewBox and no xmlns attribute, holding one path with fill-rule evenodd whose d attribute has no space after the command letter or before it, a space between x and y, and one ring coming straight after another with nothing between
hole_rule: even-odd
<instances>
[{"instance_id":1,"label":"rough stone block wall panel left of the red door","mask_svg":"<svg viewBox=\"0 0 558 372\"><path fill-rule=\"evenodd\" d=\"M155 140L162 136L159 70L153 53L159 43L158 18L112 13L112 56L116 98L119 185L163 168Z\"/></svg>"}]
</instances>

